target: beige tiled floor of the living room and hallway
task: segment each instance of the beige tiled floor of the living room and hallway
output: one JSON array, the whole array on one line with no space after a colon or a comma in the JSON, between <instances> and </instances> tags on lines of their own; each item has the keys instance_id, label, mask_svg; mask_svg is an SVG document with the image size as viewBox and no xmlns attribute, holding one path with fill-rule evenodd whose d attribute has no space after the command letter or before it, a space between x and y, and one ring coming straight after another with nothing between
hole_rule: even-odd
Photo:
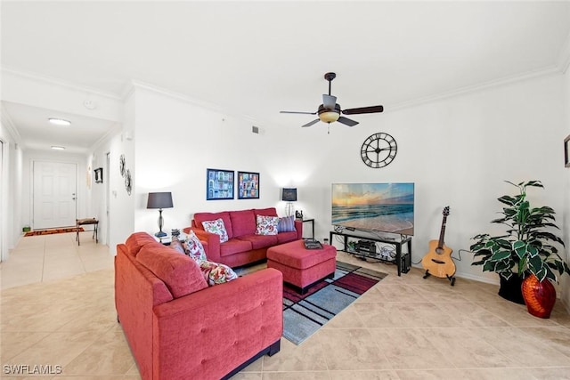
<instances>
[{"instance_id":1,"label":"beige tiled floor of the living room and hallway","mask_svg":"<svg viewBox=\"0 0 570 380\"><path fill-rule=\"evenodd\" d=\"M24 238L0 264L3 379L37 378L9 373L26 365L52 372L44 378L139 378L116 320L113 252L90 238L81 247L74 234ZM398 278L392 265L338 259L389 276L305 343L281 339L281 352L236 379L570 379L560 302L538 319L493 285L451 287L417 269Z\"/></svg>"}]
</instances>

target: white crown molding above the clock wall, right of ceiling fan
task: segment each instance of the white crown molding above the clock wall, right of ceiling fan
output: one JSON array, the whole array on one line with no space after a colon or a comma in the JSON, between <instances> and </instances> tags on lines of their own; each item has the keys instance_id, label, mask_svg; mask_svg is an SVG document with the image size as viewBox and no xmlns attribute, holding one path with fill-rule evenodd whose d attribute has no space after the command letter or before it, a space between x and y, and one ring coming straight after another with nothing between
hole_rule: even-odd
<instances>
[{"instance_id":1,"label":"white crown molding above the clock wall, right of ceiling fan","mask_svg":"<svg viewBox=\"0 0 570 380\"><path fill-rule=\"evenodd\" d=\"M392 106L385 107L386 111L392 110L399 110L399 109L408 109L411 107L417 107L422 104L431 103L435 101L443 101L445 99L454 98L461 95L466 95L468 93L477 93L479 91L487 90L490 88L500 87L502 85L510 85L517 82L523 82L525 80L534 79L537 77L548 77L551 75L559 75L560 69L558 65L553 65L548 68L539 69L528 71L525 74L512 76L512 77L503 77L501 79L491 80L479 85L468 85L465 87L461 87L460 89L445 92L445 93L438 93L435 95L426 96L423 98L414 99L412 101L403 101L401 103L396 103Z\"/></svg>"}]
</instances>

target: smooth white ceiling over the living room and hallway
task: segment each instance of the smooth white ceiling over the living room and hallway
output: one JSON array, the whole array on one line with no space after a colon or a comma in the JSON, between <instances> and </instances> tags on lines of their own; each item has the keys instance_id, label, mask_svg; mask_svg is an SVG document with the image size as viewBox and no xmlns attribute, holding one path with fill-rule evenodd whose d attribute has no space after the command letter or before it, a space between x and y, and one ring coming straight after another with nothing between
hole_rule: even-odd
<instances>
[{"instance_id":1,"label":"smooth white ceiling over the living room and hallway","mask_svg":"<svg viewBox=\"0 0 570 380\"><path fill-rule=\"evenodd\" d=\"M328 71L343 109L389 112L561 71L570 57L566 1L2 1L1 18L4 69L117 96L140 81L266 128L313 119L279 111L315 111ZM38 149L50 138L85 149L112 127L84 117L44 135L52 109L8 98L22 141L38 137ZM382 116L351 118L370 117Z\"/></svg>"}]
</instances>

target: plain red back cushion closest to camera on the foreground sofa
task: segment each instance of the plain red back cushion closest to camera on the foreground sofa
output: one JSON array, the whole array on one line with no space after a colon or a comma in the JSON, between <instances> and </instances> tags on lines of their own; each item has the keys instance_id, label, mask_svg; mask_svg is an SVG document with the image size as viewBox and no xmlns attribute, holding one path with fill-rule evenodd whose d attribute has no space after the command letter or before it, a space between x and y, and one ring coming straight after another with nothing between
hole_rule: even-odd
<instances>
[{"instance_id":1,"label":"plain red back cushion closest to camera on the foreground sofa","mask_svg":"<svg viewBox=\"0 0 570 380\"><path fill-rule=\"evenodd\" d=\"M161 279L175 298L208 287L198 263L174 249L146 245L136 255L136 260Z\"/></svg>"}]
</instances>

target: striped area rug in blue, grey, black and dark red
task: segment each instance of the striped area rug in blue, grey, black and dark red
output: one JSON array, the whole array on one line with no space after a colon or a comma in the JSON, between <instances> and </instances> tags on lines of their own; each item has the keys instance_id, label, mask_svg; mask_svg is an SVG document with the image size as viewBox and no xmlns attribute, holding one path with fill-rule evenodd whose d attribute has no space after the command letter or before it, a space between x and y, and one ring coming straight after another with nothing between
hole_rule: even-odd
<instances>
[{"instance_id":1,"label":"striped area rug in blue, grey, black and dark red","mask_svg":"<svg viewBox=\"0 0 570 380\"><path fill-rule=\"evenodd\" d=\"M376 285L386 273L337 262L333 279L323 279L305 295L283 285L283 336L301 344L330 319Z\"/></svg>"}]
</instances>

